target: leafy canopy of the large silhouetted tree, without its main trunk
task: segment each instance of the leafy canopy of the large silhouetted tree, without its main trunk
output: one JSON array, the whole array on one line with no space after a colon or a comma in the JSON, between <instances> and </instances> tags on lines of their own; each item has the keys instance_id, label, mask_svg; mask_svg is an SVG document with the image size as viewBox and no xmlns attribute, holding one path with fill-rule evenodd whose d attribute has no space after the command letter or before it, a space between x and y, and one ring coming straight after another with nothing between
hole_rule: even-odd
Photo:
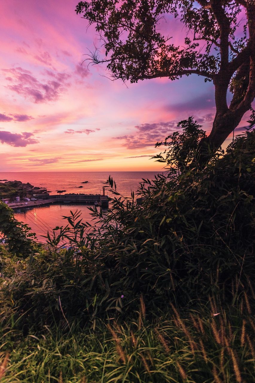
<instances>
[{"instance_id":1,"label":"leafy canopy of the large silhouetted tree, without its main trunk","mask_svg":"<svg viewBox=\"0 0 255 383\"><path fill-rule=\"evenodd\" d=\"M207 1L198 3L90 0L79 2L76 12L82 14L90 25L96 24L106 54L106 58L98 58L98 62L106 62L114 78L131 82L153 77L174 80L196 73L211 80L221 65L219 19L225 21L226 28L229 28L227 37L232 43L232 58L247 46L247 23L244 23L243 34L237 31L243 10L239 2L227 1L224 8L222 5L217 7L214 1L211 6ZM207 3L208 7L201 3ZM219 12L220 17L217 15ZM193 41L187 37L181 46L175 46L171 37L159 32L159 26L164 22L168 23L169 29L173 27L177 17L194 33ZM199 47L199 40L207 42L204 53ZM97 57L94 56L95 62Z\"/></svg>"}]
</instances>

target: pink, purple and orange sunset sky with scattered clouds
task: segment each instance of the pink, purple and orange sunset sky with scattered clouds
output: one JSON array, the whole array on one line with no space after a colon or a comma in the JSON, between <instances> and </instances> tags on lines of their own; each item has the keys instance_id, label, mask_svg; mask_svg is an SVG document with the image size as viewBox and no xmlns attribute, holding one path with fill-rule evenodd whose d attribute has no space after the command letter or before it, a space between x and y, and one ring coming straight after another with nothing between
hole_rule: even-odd
<instances>
[{"instance_id":1,"label":"pink, purple and orange sunset sky with scattered clouds","mask_svg":"<svg viewBox=\"0 0 255 383\"><path fill-rule=\"evenodd\" d=\"M0 2L0 171L158 171L154 145L178 121L193 115L209 132L214 86L196 75L125 85L87 68L100 43L77 3ZM169 28L175 43L186 36Z\"/></svg>"}]
</instances>

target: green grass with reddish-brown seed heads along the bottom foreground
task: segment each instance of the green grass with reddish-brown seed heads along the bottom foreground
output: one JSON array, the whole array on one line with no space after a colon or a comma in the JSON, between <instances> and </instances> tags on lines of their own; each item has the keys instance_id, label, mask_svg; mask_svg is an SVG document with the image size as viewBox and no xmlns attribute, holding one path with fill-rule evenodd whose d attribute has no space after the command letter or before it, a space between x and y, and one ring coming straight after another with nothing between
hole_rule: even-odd
<instances>
[{"instance_id":1,"label":"green grass with reddish-brown seed heads along the bottom foreground","mask_svg":"<svg viewBox=\"0 0 255 383\"><path fill-rule=\"evenodd\" d=\"M1 383L254 382L248 298L225 308L211 299L181 312L168 304L155 320L142 298L137 309L126 321L98 321L95 330L73 322L68 331L45 326L23 336L6 326Z\"/></svg>"}]
</instances>

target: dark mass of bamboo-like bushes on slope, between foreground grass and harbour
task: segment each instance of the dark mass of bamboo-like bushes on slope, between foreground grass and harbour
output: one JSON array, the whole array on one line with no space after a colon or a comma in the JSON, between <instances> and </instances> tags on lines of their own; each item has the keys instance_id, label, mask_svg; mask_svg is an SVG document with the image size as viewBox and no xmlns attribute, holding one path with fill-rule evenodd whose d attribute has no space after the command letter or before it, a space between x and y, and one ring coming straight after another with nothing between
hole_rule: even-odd
<instances>
[{"instance_id":1,"label":"dark mass of bamboo-like bushes on slope, between foreground grass and harbour","mask_svg":"<svg viewBox=\"0 0 255 383\"><path fill-rule=\"evenodd\" d=\"M134 193L119 196L110 177L116 195L110 211L91 208L100 229L71 212L67 226L48 235L49 250L19 264L5 260L10 279L2 294L14 310L27 312L20 328L53 318L68 327L74 316L95 327L96 318L132 312L141 294L149 310L164 312L168 301L185 306L209 293L227 302L235 278L247 288L254 267L254 146L255 131L247 132L203 171L144 180L140 205ZM61 250L62 241L69 249Z\"/></svg>"}]
</instances>

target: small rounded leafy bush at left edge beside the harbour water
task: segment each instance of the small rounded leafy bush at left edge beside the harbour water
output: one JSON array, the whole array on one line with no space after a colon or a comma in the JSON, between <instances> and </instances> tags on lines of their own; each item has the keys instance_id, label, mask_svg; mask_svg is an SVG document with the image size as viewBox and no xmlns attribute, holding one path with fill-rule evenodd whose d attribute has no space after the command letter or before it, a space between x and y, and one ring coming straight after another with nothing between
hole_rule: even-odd
<instances>
[{"instance_id":1,"label":"small rounded leafy bush at left edge beside the harbour water","mask_svg":"<svg viewBox=\"0 0 255 383\"><path fill-rule=\"evenodd\" d=\"M26 258L32 253L35 234L30 229L28 225L14 218L11 208L0 202L0 233L7 241L10 252L16 257Z\"/></svg>"}]
</instances>

